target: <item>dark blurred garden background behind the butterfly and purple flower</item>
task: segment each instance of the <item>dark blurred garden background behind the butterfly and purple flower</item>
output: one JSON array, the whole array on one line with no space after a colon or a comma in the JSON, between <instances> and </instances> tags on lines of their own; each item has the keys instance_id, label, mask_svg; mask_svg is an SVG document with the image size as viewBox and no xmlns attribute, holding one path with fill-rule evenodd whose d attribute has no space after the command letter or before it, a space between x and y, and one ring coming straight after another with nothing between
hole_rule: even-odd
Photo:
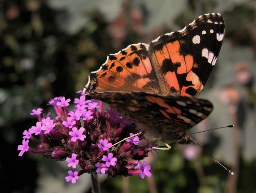
<instances>
[{"instance_id":1,"label":"dark blurred garden background behind the butterfly and purple flower","mask_svg":"<svg viewBox=\"0 0 256 193\"><path fill-rule=\"evenodd\" d=\"M208 12L222 13L226 23L216 68L200 95L215 110L190 132L236 125L193 135L235 175L199 146L174 144L148 158L153 178L100 176L102 192L255 192L256 2L249 0L1 0L0 191L90 192L87 175L66 183L66 163L18 157L23 131L36 123L29 113L50 111L55 96L77 97L106 55L180 30Z\"/></svg>"}]
</instances>

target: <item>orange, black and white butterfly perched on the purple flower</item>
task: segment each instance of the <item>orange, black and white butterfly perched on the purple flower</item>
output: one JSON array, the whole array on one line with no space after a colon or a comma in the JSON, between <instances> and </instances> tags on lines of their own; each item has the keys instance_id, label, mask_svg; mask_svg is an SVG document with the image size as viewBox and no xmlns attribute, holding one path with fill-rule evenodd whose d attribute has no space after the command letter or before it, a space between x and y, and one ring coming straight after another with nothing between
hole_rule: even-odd
<instances>
[{"instance_id":1,"label":"orange, black and white butterfly perched on the purple flower","mask_svg":"<svg viewBox=\"0 0 256 193\"><path fill-rule=\"evenodd\" d=\"M132 44L108 55L90 73L83 92L109 103L156 139L186 143L186 131L213 109L197 97L216 64L224 32L220 13L200 15L149 45Z\"/></svg>"}]
</instances>

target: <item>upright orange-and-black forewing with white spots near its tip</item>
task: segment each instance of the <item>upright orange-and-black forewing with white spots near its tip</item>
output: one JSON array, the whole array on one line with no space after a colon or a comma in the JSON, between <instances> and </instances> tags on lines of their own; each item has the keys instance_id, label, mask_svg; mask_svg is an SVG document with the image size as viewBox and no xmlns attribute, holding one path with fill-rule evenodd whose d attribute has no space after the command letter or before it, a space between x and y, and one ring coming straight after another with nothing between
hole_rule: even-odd
<instances>
[{"instance_id":1,"label":"upright orange-and-black forewing with white spots near its tip","mask_svg":"<svg viewBox=\"0 0 256 193\"><path fill-rule=\"evenodd\" d=\"M153 40L148 56L161 85L160 93L197 97L214 68L224 31L221 14L208 13L180 31Z\"/></svg>"}]
</instances>

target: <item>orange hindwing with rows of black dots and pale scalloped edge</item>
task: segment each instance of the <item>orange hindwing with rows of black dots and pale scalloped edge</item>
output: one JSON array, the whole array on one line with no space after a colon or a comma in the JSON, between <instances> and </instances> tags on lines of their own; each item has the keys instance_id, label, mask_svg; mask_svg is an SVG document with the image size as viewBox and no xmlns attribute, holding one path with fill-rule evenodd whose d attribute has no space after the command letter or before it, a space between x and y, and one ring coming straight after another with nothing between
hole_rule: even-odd
<instances>
[{"instance_id":1,"label":"orange hindwing with rows of black dots and pale scalloped edge","mask_svg":"<svg viewBox=\"0 0 256 193\"><path fill-rule=\"evenodd\" d=\"M148 45L134 44L110 54L99 70L90 73L85 89L158 93L159 84L148 58Z\"/></svg>"}]
</instances>

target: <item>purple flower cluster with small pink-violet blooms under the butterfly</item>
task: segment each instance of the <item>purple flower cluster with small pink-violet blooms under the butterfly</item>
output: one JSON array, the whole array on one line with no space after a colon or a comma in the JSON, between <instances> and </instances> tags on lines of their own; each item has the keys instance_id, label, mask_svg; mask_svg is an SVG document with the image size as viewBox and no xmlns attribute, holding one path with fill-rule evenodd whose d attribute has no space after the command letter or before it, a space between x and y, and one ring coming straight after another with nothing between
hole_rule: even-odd
<instances>
[{"instance_id":1,"label":"purple flower cluster with small pink-violet blooms under the butterfly","mask_svg":"<svg viewBox=\"0 0 256 193\"><path fill-rule=\"evenodd\" d=\"M83 94L75 98L73 111L68 110L70 102L71 99L65 97L50 100L56 112L53 118L50 114L42 117L40 108L32 110L31 115L36 115L38 121L24 131L18 156L31 152L53 160L66 160L73 169L79 166L79 171L68 171L66 181L72 183L76 183L81 174L92 172L109 177L151 177L150 165L145 161L141 164L139 160L147 157L152 148L148 148L148 144L139 145L143 134L134 136L139 133L134 123L112 109L104 111L101 101L86 100ZM129 136L132 137L123 140ZM37 148L29 146L30 142Z\"/></svg>"}]
</instances>

